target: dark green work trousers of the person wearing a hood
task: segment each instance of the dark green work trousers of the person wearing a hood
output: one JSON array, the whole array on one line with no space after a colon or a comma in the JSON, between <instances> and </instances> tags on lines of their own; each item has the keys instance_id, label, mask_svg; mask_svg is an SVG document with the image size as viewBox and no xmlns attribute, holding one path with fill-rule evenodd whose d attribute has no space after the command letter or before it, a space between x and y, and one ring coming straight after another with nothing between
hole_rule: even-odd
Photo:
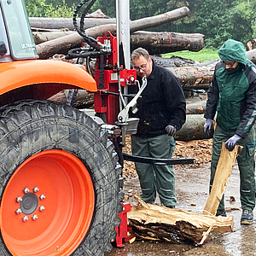
<instances>
[{"instance_id":1,"label":"dark green work trousers of the person wearing a hood","mask_svg":"<svg viewBox=\"0 0 256 256\"><path fill-rule=\"evenodd\" d=\"M226 142L234 135L233 132L223 131L218 125L214 131L212 143L212 162L211 162L211 179L210 191L212 188L213 178L216 172L218 159L220 156L222 143ZM240 154L236 157L240 172L240 201L242 210L251 210L255 207L255 130L254 127L248 133L247 138L241 139L236 143L241 145ZM218 210L224 211L224 195L219 203Z\"/></svg>"}]
</instances>

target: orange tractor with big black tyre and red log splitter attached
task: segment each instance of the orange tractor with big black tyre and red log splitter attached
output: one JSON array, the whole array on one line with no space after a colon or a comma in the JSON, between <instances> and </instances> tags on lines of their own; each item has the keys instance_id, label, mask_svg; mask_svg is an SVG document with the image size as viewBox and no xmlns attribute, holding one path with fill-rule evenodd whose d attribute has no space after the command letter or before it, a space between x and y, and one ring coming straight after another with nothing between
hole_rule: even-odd
<instances>
[{"instance_id":1,"label":"orange tractor with big black tyre and red log splitter attached","mask_svg":"<svg viewBox=\"0 0 256 256\"><path fill-rule=\"evenodd\" d=\"M119 1L127 12L129 2ZM129 27L119 27L118 38L94 39L83 22L74 25L87 44L67 58L96 58L95 79L77 65L38 60L23 0L0 0L0 255L102 256L115 239L121 148L137 124L128 112L146 81L127 103L136 72L129 58L119 59L130 55ZM67 105L47 100L66 89L95 92L97 117L73 108L72 94Z\"/></svg>"}]
</instances>

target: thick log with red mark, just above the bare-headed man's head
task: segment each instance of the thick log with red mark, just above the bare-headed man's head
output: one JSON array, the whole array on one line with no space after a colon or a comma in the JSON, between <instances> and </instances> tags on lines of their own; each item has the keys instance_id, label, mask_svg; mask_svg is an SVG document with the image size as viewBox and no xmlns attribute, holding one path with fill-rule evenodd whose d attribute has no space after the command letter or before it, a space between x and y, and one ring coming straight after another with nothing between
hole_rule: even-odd
<instances>
[{"instance_id":1,"label":"thick log with red mark, just above the bare-headed man's head","mask_svg":"<svg viewBox=\"0 0 256 256\"><path fill-rule=\"evenodd\" d=\"M204 35L176 32L134 32L131 35L131 50L143 47L150 55L178 50L199 51L204 48Z\"/></svg>"}]
</instances>

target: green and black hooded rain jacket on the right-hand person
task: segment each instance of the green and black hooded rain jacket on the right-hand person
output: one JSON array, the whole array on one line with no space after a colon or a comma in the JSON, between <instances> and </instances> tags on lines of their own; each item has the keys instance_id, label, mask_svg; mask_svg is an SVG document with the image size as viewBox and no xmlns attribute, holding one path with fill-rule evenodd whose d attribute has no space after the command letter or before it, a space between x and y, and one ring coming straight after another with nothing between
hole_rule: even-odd
<instances>
[{"instance_id":1,"label":"green and black hooded rain jacket on the right-hand person","mask_svg":"<svg viewBox=\"0 0 256 256\"><path fill-rule=\"evenodd\" d=\"M220 49L221 61L216 65L208 92L206 118L214 118L224 131L247 137L256 117L256 70L247 60L243 44L229 39ZM223 61L237 61L226 69Z\"/></svg>"}]
</instances>

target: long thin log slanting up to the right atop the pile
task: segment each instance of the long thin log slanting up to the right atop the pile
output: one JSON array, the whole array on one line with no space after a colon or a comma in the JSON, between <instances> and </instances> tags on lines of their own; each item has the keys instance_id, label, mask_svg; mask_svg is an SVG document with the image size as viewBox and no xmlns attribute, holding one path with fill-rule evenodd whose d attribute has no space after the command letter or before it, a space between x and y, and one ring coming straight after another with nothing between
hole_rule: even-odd
<instances>
[{"instance_id":1,"label":"long thin log slanting up to the right atop the pile","mask_svg":"<svg viewBox=\"0 0 256 256\"><path fill-rule=\"evenodd\" d=\"M135 32L138 30L143 30L149 27L159 26L161 24L166 24L173 20L181 19L189 15L189 9L187 7L182 7L179 9L174 9L162 15L156 15L153 17L147 17L140 20L131 21L130 32ZM92 37L97 38L103 36L106 32L116 32L115 25L102 25L89 28L85 30L85 33ZM84 42L84 39L79 36L78 33L73 35L67 35L62 38L56 38L51 40L51 42L45 42L38 44L36 49L38 55L41 59L47 59L56 53L66 54L68 49L76 48Z\"/></svg>"}]
</instances>

